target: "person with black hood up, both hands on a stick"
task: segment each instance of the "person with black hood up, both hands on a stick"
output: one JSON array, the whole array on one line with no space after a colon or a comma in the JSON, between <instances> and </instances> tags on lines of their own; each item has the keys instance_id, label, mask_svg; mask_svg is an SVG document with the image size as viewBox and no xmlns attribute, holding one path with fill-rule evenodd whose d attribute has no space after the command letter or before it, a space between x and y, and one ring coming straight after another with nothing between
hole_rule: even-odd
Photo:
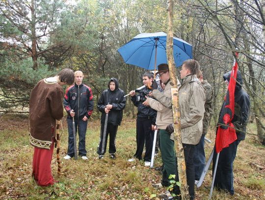
<instances>
[{"instance_id":1,"label":"person with black hood up, both hands on a stick","mask_svg":"<svg viewBox=\"0 0 265 200\"><path fill-rule=\"evenodd\" d=\"M100 143L98 146L97 153L99 154L99 159L104 157L106 153L107 137L109 134L109 149L111 159L115 159L116 146L115 139L117 134L118 125L121 125L122 113L125 108L126 98L124 97L125 93L122 89L119 88L119 82L116 78L111 78L108 83L108 89L102 92L100 100L98 102L98 109L101 114L101 134L100 134ZM107 128L106 128L106 140L103 144L103 132L106 114L108 114ZM105 146L104 151L102 151L102 145Z\"/></svg>"}]
</instances>

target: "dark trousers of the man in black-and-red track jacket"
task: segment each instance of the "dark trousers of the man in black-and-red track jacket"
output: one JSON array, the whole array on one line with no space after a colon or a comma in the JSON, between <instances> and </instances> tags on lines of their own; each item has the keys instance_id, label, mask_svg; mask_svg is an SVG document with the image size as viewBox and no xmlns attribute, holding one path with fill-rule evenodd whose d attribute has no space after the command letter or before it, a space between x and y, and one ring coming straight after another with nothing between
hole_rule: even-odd
<instances>
[{"instance_id":1,"label":"dark trousers of the man in black-and-red track jacket","mask_svg":"<svg viewBox=\"0 0 265 200\"><path fill-rule=\"evenodd\" d=\"M73 118L67 117L68 123L68 150L67 155L73 157L75 155L74 151L74 134L73 134ZM85 149L85 134L86 134L86 127L87 127L87 120L83 121L82 119L75 118L75 127L76 127L76 136L78 131L79 136L79 144L78 144L78 154L79 156L86 155Z\"/></svg>"}]
</instances>

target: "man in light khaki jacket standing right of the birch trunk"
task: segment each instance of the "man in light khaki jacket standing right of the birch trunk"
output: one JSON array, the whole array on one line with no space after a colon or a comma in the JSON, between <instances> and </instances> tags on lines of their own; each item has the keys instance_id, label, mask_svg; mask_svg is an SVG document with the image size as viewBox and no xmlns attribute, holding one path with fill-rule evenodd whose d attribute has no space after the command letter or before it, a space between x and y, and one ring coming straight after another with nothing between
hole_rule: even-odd
<instances>
[{"instance_id":1,"label":"man in light khaki jacket standing right of the birch trunk","mask_svg":"<svg viewBox=\"0 0 265 200\"><path fill-rule=\"evenodd\" d=\"M184 148L186 177L190 200L195 199L194 192L194 151L203 131L205 94L204 87L197 79L199 63L194 59L185 60L180 71L181 86L179 87L179 103L181 110L181 136ZM169 133L174 131L173 125L166 128Z\"/></svg>"}]
</instances>

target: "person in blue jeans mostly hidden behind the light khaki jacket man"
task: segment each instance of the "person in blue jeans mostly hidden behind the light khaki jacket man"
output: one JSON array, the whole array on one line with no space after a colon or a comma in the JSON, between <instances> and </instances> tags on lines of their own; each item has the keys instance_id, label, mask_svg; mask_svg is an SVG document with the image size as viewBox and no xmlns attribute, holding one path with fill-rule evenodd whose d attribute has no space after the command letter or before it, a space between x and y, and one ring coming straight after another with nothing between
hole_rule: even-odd
<instances>
[{"instance_id":1,"label":"person in blue jeans mostly hidden behind the light khaki jacket man","mask_svg":"<svg viewBox=\"0 0 265 200\"><path fill-rule=\"evenodd\" d=\"M212 100L213 100L213 91L212 86L203 79L201 70L197 74L197 78L205 88L205 97L206 102L204 104L205 113L203 116L203 132L200 142L195 146L194 153L194 169L195 169L195 185L198 183L200 176L203 172L205 166L205 152L204 152L204 138L207 134L208 127L210 125L210 120L212 117Z\"/></svg>"}]
</instances>

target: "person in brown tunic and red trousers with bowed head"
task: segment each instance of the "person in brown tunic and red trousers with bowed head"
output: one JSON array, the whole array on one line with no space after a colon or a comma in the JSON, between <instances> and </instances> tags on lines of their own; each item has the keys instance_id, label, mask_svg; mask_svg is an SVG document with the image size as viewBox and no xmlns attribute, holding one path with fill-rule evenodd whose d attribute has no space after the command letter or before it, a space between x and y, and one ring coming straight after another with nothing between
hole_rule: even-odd
<instances>
[{"instance_id":1,"label":"person in brown tunic and red trousers with bowed head","mask_svg":"<svg viewBox=\"0 0 265 200\"><path fill-rule=\"evenodd\" d=\"M63 117L63 90L74 82L74 72L63 69L58 75L40 80L29 98L30 144L34 146L32 176L40 186L53 185L51 170L55 119Z\"/></svg>"}]
</instances>

